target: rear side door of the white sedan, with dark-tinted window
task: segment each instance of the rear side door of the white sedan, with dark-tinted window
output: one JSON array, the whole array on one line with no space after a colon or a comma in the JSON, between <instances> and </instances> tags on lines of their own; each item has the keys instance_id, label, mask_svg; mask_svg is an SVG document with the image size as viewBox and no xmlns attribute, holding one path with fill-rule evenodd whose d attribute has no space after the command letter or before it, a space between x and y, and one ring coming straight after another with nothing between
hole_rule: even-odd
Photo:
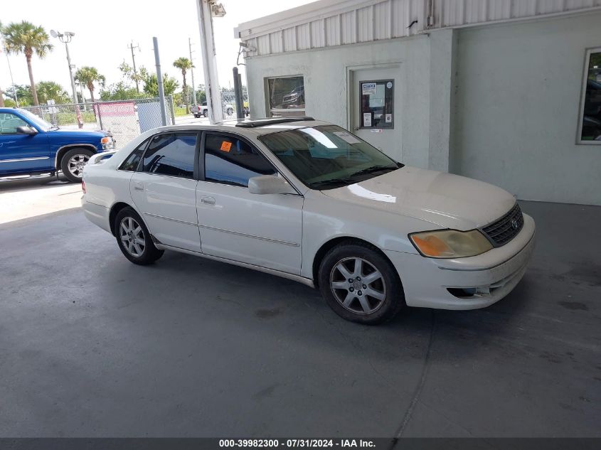
<instances>
[{"instance_id":1,"label":"rear side door of the white sedan, with dark-tinted window","mask_svg":"<svg viewBox=\"0 0 601 450\"><path fill-rule=\"evenodd\" d=\"M129 181L134 204L161 244L201 252L196 218L198 132L156 134Z\"/></svg>"}]
</instances>

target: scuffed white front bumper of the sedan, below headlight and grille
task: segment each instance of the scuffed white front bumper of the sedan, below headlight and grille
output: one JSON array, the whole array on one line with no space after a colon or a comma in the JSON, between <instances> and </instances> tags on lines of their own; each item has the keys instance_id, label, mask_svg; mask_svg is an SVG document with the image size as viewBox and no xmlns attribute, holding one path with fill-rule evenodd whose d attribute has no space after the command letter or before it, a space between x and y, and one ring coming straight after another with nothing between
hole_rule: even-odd
<instances>
[{"instance_id":1,"label":"scuffed white front bumper of the sedan, below headlight and grille","mask_svg":"<svg viewBox=\"0 0 601 450\"><path fill-rule=\"evenodd\" d=\"M511 242L474 257L434 259L385 251L403 282L408 306L477 309L509 294L534 250L534 220L526 214L523 218L522 230Z\"/></svg>"}]
</instances>

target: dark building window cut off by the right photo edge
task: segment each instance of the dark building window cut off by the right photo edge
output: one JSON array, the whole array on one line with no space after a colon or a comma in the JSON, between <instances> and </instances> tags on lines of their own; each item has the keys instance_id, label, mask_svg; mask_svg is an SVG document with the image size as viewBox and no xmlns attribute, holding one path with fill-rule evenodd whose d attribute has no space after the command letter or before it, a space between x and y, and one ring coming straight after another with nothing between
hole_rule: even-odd
<instances>
[{"instance_id":1,"label":"dark building window cut off by the right photo edge","mask_svg":"<svg viewBox=\"0 0 601 450\"><path fill-rule=\"evenodd\" d=\"M586 53L580 111L580 144L601 144L601 48Z\"/></svg>"}]
</instances>

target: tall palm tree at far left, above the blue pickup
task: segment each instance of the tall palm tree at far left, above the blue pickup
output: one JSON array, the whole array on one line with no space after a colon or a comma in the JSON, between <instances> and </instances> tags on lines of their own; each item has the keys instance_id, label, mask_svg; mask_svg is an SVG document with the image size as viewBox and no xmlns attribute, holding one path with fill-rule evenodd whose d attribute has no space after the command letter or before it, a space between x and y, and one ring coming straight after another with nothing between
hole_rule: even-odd
<instances>
[{"instance_id":1,"label":"tall palm tree at far left, above the blue pickup","mask_svg":"<svg viewBox=\"0 0 601 450\"><path fill-rule=\"evenodd\" d=\"M16 55L23 53L25 55L33 104L36 106L39 105L36 82L33 81L31 57L33 56L33 52L35 52L38 58L44 58L52 50L53 45L48 43L48 33L41 26L35 26L28 21L9 23L9 25L2 27L0 31L2 36L4 36L6 53L14 53Z\"/></svg>"}]
</instances>

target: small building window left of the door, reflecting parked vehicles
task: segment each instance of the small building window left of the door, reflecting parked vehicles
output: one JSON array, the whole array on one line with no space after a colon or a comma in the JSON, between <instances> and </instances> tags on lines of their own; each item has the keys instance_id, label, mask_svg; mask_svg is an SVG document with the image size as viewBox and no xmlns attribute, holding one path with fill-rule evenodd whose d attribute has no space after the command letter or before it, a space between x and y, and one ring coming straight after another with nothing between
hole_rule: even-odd
<instances>
[{"instance_id":1,"label":"small building window left of the door, reflecting parked vehicles","mask_svg":"<svg viewBox=\"0 0 601 450\"><path fill-rule=\"evenodd\" d=\"M267 78L270 117L304 116L302 76Z\"/></svg>"}]
</instances>

